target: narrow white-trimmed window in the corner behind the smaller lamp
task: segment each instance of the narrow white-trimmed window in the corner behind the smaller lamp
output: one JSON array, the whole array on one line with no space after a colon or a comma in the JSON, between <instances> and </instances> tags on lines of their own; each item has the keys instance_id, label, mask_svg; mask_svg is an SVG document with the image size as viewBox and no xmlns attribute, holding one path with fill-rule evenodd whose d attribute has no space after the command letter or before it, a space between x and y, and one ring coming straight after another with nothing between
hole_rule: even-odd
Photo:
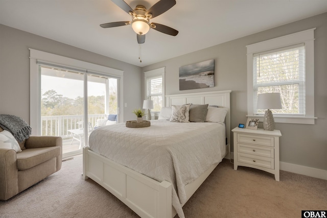
<instances>
[{"instance_id":1,"label":"narrow white-trimmed window in the corner behind the smaller lamp","mask_svg":"<svg viewBox=\"0 0 327 218\"><path fill-rule=\"evenodd\" d=\"M165 106L165 67L145 73L145 99L153 101L152 112Z\"/></svg>"}]
</instances>

